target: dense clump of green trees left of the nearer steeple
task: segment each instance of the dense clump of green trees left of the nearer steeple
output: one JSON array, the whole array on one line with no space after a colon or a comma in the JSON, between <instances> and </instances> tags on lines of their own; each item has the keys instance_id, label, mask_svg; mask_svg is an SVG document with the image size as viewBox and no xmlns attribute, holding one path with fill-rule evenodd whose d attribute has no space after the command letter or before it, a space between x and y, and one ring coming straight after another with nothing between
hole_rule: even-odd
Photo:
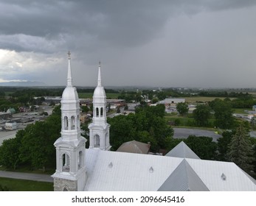
<instances>
[{"instance_id":1,"label":"dense clump of green trees left of the nearer steeple","mask_svg":"<svg viewBox=\"0 0 256 206\"><path fill-rule=\"evenodd\" d=\"M4 141L0 146L0 164L17 168L26 164L30 168L55 168L55 146L60 137L60 106L45 121L29 124L17 132L16 138Z\"/></svg>"}]
</instances>

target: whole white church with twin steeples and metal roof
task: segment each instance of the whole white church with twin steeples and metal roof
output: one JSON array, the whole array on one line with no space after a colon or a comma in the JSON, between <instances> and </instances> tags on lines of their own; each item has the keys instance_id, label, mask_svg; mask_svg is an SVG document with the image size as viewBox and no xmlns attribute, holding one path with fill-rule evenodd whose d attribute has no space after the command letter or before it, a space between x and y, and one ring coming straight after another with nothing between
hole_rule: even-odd
<instances>
[{"instance_id":1,"label":"whole white church with twin steeples and metal roof","mask_svg":"<svg viewBox=\"0 0 256 206\"><path fill-rule=\"evenodd\" d=\"M89 149L80 135L80 105L70 52L61 99L61 137L55 141L55 191L256 191L235 163L201 160L184 142L165 156L111 152L106 96L98 68Z\"/></svg>"}]
</instances>

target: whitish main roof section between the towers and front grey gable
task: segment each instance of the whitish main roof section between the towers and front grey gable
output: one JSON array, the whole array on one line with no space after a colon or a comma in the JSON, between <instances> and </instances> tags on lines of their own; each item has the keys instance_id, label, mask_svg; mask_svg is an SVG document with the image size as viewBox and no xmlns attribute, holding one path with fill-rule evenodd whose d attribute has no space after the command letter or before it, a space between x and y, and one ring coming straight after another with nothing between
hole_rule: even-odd
<instances>
[{"instance_id":1,"label":"whitish main roof section between the towers and front grey gable","mask_svg":"<svg viewBox=\"0 0 256 206\"><path fill-rule=\"evenodd\" d=\"M86 149L85 191L157 191L181 158Z\"/></svg>"}]
</instances>

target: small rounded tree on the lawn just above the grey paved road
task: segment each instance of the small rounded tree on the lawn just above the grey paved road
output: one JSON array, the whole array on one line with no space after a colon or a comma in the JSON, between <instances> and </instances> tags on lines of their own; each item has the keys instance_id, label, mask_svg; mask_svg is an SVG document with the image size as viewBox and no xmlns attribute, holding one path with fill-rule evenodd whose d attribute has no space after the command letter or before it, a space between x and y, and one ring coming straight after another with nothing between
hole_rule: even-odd
<instances>
[{"instance_id":1,"label":"small rounded tree on the lawn just above the grey paved road","mask_svg":"<svg viewBox=\"0 0 256 206\"><path fill-rule=\"evenodd\" d=\"M210 118L210 110L211 108L205 104L198 104L196 105L196 110L193 110L193 117L196 121L196 124L199 127L207 126L208 119Z\"/></svg>"}]
</instances>

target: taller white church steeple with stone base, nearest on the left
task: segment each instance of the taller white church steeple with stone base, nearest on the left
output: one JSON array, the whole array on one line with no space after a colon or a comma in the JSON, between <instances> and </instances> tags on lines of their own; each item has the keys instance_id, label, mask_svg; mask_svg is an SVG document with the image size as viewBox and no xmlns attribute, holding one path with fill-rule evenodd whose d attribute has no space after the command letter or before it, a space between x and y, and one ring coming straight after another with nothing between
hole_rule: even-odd
<instances>
[{"instance_id":1,"label":"taller white church steeple with stone base, nearest on the left","mask_svg":"<svg viewBox=\"0 0 256 206\"><path fill-rule=\"evenodd\" d=\"M55 141L55 191L83 191L86 183L86 138L80 135L80 105L72 86L71 57L68 53L67 85L61 99L61 137Z\"/></svg>"}]
</instances>

